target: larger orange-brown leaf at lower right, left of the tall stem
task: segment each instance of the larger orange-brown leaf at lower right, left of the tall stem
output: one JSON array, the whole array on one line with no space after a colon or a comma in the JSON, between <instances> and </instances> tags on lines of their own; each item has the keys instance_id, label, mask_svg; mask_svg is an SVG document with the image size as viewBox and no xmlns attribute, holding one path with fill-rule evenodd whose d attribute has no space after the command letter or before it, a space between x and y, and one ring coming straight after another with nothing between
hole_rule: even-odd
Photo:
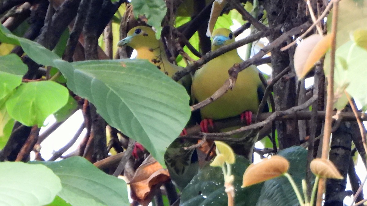
<instances>
[{"instance_id":1,"label":"larger orange-brown leaf at lower right, left of the tall stem","mask_svg":"<svg viewBox=\"0 0 367 206\"><path fill-rule=\"evenodd\" d=\"M279 155L274 155L270 159L264 159L257 164L252 163L243 174L241 187L247 187L279 177L286 173L288 168L288 160Z\"/></svg>"}]
</instances>

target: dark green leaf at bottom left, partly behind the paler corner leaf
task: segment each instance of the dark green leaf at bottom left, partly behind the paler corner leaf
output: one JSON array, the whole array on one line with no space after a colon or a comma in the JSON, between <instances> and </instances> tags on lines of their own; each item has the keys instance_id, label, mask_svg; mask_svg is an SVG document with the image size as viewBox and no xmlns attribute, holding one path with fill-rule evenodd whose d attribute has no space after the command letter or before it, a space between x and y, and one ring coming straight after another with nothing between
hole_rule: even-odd
<instances>
[{"instance_id":1,"label":"dark green leaf at bottom left, partly behind the paler corner leaf","mask_svg":"<svg viewBox=\"0 0 367 206\"><path fill-rule=\"evenodd\" d=\"M102 172L82 157L31 163L47 166L60 178L62 190L57 195L73 206L129 205L125 181Z\"/></svg>"}]
</instances>

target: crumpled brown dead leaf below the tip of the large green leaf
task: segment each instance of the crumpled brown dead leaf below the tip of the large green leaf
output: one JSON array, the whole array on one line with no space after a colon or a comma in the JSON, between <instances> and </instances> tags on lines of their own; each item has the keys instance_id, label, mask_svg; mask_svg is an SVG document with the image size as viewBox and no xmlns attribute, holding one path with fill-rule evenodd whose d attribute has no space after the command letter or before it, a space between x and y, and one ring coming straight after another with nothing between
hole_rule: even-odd
<instances>
[{"instance_id":1,"label":"crumpled brown dead leaf below the tip of the large green leaf","mask_svg":"<svg viewBox=\"0 0 367 206\"><path fill-rule=\"evenodd\" d=\"M151 156L139 166L130 181L131 197L141 205L148 205L154 196L154 191L170 179L166 169Z\"/></svg>"}]
</instances>

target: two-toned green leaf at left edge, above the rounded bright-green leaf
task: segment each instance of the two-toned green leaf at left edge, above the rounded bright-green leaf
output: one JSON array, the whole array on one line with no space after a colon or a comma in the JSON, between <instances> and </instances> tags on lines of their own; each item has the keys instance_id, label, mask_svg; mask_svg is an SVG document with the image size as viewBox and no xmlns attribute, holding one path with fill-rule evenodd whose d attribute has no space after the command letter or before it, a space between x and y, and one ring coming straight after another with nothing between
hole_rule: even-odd
<instances>
[{"instance_id":1,"label":"two-toned green leaf at left edge, above the rounded bright-green leaf","mask_svg":"<svg viewBox=\"0 0 367 206\"><path fill-rule=\"evenodd\" d=\"M28 67L15 54L0 56L0 99L22 83Z\"/></svg>"}]
</instances>

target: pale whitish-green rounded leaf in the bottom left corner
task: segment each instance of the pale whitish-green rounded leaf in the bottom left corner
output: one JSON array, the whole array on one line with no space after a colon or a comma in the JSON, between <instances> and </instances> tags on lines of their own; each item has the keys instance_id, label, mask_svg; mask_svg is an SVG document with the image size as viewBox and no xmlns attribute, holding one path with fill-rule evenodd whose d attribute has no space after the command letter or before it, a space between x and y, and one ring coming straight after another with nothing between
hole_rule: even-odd
<instances>
[{"instance_id":1,"label":"pale whitish-green rounded leaf in the bottom left corner","mask_svg":"<svg viewBox=\"0 0 367 206\"><path fill-rule=\"evenodd\" d=\"M43 165L0 162L0 205L46 205L59 191L60 179Z\"/></svg>"}]
</instances>

